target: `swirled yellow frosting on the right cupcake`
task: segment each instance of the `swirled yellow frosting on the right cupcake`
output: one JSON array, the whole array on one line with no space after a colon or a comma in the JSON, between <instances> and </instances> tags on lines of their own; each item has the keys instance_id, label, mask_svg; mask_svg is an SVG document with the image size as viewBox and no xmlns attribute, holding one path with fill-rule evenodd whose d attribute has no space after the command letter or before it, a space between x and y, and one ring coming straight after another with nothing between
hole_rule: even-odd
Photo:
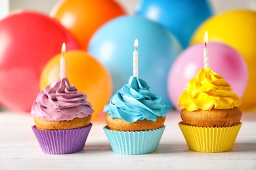
<instances>
[{"instance_id":1,"label":"swirled yellow frosting on the right cupcake","mask_svg":"<svg viewBox=\"0 0 256 170\"><path fill-rule=\"evenodd\" d=\"M221 75L210 68L202 68L192 78L179 97L182 110L232 109L241 104L241 99Z\"/></svg>"}]
</instances>

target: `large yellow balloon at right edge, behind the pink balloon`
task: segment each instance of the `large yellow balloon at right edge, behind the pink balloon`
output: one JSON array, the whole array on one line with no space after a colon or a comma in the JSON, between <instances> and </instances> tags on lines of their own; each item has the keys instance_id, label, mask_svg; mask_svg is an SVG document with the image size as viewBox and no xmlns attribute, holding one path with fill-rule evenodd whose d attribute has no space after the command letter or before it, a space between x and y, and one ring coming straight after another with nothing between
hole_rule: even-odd
<instances>
[{"instance_id":1,"label":"large yellow balloon at right edge, behind the pink balloon","mask_svg":"<svg viewBox=\"0 0 256 170\"><path fill-rule=\"evenodd\" d=\"M209 41L229 44L245 59L249 79L242 97L242 110L256 108L256 12L252 10L231 10L209 18L196 30L191 44L203 41L205 30L209 33Z\"/></svg>"}]
</instances>

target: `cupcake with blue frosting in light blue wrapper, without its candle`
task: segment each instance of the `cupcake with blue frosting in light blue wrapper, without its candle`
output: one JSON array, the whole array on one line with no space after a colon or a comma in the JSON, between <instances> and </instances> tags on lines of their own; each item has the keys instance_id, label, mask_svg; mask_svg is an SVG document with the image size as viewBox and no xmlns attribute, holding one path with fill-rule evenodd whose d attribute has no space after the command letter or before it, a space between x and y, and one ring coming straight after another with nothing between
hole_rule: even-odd
<instances>
[{"instance_id":1,"label":"cupcake with blue frosting in light blue wrapper, without its candle","mask_svg":"<svg viewBox=\"0 0 256 170\"><path fill-rule=\"evenodd\" d=\"M165 114L169 106L152 93L148 84L131 76L104 107L104 131L112 150L118 154L147 154L154 152L165 129Z\"/></svg>"}]
</instances>

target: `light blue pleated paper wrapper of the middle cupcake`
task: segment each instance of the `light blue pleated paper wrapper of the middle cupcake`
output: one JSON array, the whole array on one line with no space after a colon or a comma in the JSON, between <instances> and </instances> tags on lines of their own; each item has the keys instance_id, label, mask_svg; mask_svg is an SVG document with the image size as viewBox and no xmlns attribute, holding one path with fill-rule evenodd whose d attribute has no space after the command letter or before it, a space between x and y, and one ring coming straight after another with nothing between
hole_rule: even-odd
<instances>
[{"instance_id":1,"label":"light blue pleated paper wrapper of the middle cupcake","mask_svg":"<svg viewBox=\"0 0 256 170\"><path fill-rule=\"evenodd\" d=\"M134 155L156 151L165 126L148 131L113 131L108 126L103 129L114 152Z\"/></svg>"}]
</instances>

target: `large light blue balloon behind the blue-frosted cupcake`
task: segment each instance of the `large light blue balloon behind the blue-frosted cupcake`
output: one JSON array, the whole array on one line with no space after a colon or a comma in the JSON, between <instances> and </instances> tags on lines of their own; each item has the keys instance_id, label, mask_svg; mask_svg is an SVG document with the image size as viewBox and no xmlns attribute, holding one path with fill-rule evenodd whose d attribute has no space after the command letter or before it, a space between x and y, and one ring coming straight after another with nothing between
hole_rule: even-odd
<instances>
[{"instance_id":1,"label":"large light blue balloon behind the blue-frosted cupcake","mask_svg":"<svg viewBox=\"0 0 256 170\"><path fill-rule=\"evenodd\" d=\"M171 105L167 75L182 47L165 27L140 16L119 17L98 29L89 52L110 71L116 93L133 75L135 39L139 41L139 77L162 97L163 103Z\"/></svg>"}]
</instances>

